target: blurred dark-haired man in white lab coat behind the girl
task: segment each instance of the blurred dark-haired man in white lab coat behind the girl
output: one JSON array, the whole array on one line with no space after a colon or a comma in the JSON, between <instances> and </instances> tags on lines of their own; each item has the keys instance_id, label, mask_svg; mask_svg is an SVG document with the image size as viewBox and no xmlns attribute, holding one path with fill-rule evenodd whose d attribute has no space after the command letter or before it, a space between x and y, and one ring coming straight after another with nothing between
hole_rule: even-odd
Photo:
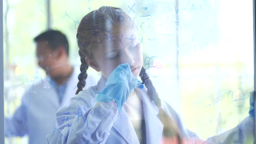
<instances>
[{"instance_id":1,"label":"blurred dark-haired man in white lab coat behind the girl","mask_svg":"<svg viewBox=\"0 0 256 144\"><path fill-rule=\"evenodd\" d=\"M29 136L30 144L45 144L46 135L56 127L55 114L75 96L79 67L69 64L69 45L64 34L48 30L34 38L38 65L45 70L44 82L33 84L23 95L12 119L5 118L5 136ZM97 80L86 79L86 88Z\"/></svg>"}]
</instances>

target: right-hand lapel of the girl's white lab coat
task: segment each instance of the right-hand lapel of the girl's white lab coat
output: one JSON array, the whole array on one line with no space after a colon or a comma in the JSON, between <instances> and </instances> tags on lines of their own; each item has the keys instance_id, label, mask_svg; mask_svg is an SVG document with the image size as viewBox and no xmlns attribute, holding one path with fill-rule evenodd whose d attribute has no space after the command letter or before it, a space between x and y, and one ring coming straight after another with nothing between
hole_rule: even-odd
<instances>
[{"instance_id":1,"label":"right-hand lapel of the girl's white lab coat","mask_svg":"<svg viewBox=\"0 0 256 144\"><path fill-rule=\"evenodd\" d=\"M145 87L143 89L136 88L136 92L142 101L147 144L158 144L161 141L164 127L160 119L157 117L159 111L152 100L149 99L147 89Z\"/></svg>"}]
</instances>

